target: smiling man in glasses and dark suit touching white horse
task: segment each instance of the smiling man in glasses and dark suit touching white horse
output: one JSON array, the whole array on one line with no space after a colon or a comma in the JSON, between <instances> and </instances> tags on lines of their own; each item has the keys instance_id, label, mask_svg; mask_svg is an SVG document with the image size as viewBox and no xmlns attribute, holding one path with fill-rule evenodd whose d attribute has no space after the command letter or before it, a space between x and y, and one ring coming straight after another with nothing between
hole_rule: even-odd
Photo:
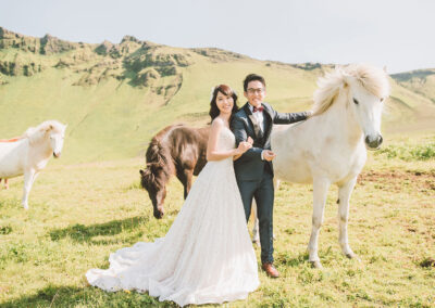
<instances>
[{"instance_id":1,"label":"smiling man in glasses and dark suit touching white horse","mask_svg":"<svg viewBox=\"0 0 435 308\"><path fill-rule=\"evenodd\" d=\"M291 124L307 119L311 113L277 113L264 103L264 78L250 74L244 80L246 103L233 117L232 130L239 142L253 139L250 150L234 162L237 184L245 207L246 220L251 213L252 197L256 200L260 223L262 269L272 278L279 277L273 266L273 167L275 154L271 151L273 124Z\"/></svg>"}]
</instances>

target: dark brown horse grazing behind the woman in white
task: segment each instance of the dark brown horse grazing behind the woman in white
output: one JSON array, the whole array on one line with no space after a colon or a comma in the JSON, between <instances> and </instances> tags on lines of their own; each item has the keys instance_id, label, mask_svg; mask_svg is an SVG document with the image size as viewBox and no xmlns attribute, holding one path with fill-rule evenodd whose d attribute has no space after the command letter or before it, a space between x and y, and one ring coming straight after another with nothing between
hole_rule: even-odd
<instances>
[{"instance_id":1,"label":"dark brown horse grazing behind the woman in white","mask_svg":"<svg viewBox=\"0 0 435 308\"><path fill-rule=\"evenodd\" d=\"M139 172L140 184L148 191L156 218L163 217L166 183L172 176L183 183L184 197L187 197L192 176L198 176L206 166L209 133L210 127L172 125L152 138L146 154L147 168Z\"/></svg>"}]
</instances>

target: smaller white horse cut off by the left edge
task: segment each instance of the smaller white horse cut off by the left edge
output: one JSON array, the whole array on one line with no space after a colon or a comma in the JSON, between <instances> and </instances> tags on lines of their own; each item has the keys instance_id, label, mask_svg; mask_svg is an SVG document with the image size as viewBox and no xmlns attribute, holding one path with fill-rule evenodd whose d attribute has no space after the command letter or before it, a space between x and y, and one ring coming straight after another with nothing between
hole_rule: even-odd
<instances>
[{"instance_id":1,"label":"smaller white horse cut off by the left edge","mask_svg":"<svg viewBox=\"0 0 435 308\"><path fill-rule=\"evenodd\" d=\"M47 120L30 127L13 142L0 142L0 178L9 179L24 175L22 204L28 208L28 193L39 171L51 155L59 157L63 147L66 126Z\"/></svg>"}]
</instances>

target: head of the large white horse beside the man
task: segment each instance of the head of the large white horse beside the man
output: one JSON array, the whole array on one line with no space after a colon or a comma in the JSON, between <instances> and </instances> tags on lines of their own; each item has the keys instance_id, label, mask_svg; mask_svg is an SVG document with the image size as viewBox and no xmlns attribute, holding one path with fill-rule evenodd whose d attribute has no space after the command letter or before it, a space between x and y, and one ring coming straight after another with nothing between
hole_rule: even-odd
<instances>
[{"instance_id":1,"label":"head of the large white horse beside the man","mask_svg":"<svg viewBox=\"0 0 435 308\"><path fill-rule=\"evenodd\" d=\"M348 87L348 107L364 133L368 149L377 149L383 142L381 134L382 110L389 95L387 74L366 65L350 65L344 70Z\"/></svg>"}]
</instances>

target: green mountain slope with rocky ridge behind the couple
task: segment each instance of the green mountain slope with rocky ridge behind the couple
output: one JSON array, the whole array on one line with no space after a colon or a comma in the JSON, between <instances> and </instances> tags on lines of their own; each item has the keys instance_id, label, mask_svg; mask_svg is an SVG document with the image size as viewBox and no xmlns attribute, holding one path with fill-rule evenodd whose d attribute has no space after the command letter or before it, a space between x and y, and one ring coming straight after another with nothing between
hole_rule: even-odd
<instances>
[{"instance_id":1,"label":"green mountain slope with rocky ridge behind the couple","mask_svg":"<svg viewBox=\"0 0 435 308\"><path fill-rule=\"evenodd\" d=\"M311 104L318 76L331 68L259 61L214 48L173 48L132 36L92 44L0 27L0 138L59 119L69 124L63 162L132 157L166 125L204 125L215 85L227 84L241 94L244 77L258 73L278 111L301 111ZM385 128L426 129L421 118L435 118L433 77L430 89L419 89L396 76Z\"/></svg>"}]
</instances>

